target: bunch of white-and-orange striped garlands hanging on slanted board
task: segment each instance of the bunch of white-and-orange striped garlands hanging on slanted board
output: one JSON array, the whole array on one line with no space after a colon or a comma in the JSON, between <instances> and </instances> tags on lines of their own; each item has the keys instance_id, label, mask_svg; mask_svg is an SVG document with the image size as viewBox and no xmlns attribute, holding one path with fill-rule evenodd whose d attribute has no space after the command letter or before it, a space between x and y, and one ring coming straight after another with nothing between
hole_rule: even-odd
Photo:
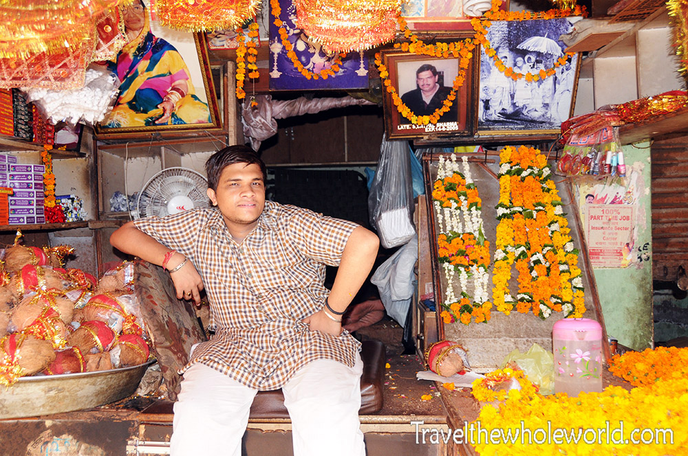
<instances>
[{"instance_id":1,"label":"bunch of white-and-orange striped garlands hanging on slanted board","mask_svg":"<svg viewBox=\"0 0 688 456\"><path fill-rule=\"evenodd\" d=\"M486 323L492 304L488 301L487 268L490 243L482 231L481 200L471 179L468 158L462 157L462 170L456 155L440 156L434 184L433 207L437 216L438 260L444 269L447 288L442 302L444 323ZM460 299L454 291L454 275L459 273ZM469 277L473 277L473 297L469 295Z\"/></svg>"}]
</instances>

